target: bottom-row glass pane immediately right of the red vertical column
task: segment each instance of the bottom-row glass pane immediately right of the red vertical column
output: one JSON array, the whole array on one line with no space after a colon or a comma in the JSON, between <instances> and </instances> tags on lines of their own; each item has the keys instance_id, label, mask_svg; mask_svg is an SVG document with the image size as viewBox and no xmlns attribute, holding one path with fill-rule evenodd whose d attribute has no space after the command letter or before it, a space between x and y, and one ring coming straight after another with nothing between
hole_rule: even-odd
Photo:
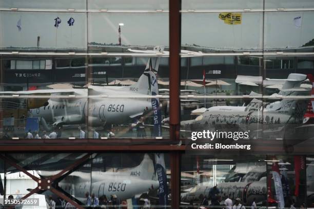
<instances>
[{"instance_id":1,"label":"bottom-row glass pane immediately right of the red vertical column","mask_svg":"<svg viewBox=\"0 0 314 209\"><path fill-rule=\"evenodd\" d=\"M195 207L232 207L236 198L248 207L267 205L265 156L183 155L181 203ZM215 206L214 206L215 205ZM226 207L226 206L225 206Z\"/></svg>"}]
</instances>

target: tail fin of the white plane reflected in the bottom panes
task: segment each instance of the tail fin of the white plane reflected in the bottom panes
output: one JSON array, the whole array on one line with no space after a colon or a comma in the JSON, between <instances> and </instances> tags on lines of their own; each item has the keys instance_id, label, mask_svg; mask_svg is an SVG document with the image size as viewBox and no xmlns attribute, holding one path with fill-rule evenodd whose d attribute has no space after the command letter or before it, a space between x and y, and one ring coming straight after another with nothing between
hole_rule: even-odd
<instances>
[{"instance_id":1,"label":"tail fin of the white plane reflected in the bottom panes","mask_svg":"<svg viewBox=\"0 0 314 209\"><path fill-rule=\"evenodd\" d=\"M128 170L129 176L138 177L143 180L151 180L154 176L154 163L148 154L138 166Z\"/></svg>"}]
</instances>

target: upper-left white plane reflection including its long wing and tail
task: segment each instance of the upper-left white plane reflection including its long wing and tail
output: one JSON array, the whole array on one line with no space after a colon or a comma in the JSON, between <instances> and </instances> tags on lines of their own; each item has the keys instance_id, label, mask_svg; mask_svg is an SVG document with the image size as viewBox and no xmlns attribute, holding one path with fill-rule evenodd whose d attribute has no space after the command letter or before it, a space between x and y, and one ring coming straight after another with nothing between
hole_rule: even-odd
<instances>
[{"instance_id":1,"label":"upper-left white plane reflection including its long wing and tail","mask_svg":"<svg viewBox=\"0 0 314 209\"><path fill-rule=\"evenodd\" d=\"M163 50L155 47L153 52ZM146 53L144 51L144 53ZM150 58L139 80L126 87L89 86L89 103L87 98L57 98L62 94L87 95L82 89L50 89L18 92L0 92L0 94L51 95L48 99L29 98L27 106L31 117L40 117L41 123L48 129L47 122L55 126L63 124L81 124L88 115L90 126L121 124L152 110L151 95L158 94L158 83L153 72L158 71L160 57ZM125 98L122 98L125 97ZM146 97L146 98L145 98Z\"/></svg>"}]
</instances>

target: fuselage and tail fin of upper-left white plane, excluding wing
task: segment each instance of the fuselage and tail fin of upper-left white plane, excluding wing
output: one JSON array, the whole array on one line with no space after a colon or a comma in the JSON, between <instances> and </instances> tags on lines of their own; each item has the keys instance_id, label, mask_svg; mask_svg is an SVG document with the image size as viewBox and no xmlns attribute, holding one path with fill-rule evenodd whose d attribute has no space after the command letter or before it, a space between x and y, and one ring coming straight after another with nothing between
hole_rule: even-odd
<instances>
[{"instance_id":1,"label":"fuselage and tail fin of upper-left white plane, excluding wing","mask_svg":"<svg viewBox=\"0 0 314 209\"><path fill-rule=\"evenodd\" d=\"M152 92L158 94L156 75L152 72L151 65L151 59L149 59L145 72L134 85L126 87L91 86L89 95L98 95L98 97L91 98L89 103L86 98L50 98L48 106L31 109L30 112L33 117L42 117L57 126L84 123L87 115L90 126L126 122L152 109L151 99L143 98L145 95L152 95ZM102 98L101 95L106 95L108 98ZM128 98L119 98L123 96ZM42 120L42 122L44 121Z\"/></svg>"}]
</instances>

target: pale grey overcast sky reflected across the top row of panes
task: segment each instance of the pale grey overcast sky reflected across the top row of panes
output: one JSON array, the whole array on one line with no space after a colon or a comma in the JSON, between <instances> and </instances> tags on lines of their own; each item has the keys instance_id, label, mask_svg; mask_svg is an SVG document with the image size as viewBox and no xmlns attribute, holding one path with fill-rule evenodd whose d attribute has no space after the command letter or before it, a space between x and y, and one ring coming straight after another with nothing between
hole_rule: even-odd
<instances>
[{"instance_id":1,"label":"pale grey overcast sky reflected across the top row of panes","mask_svg":"<svg viewBox=\"0 0 314 209\"><path fill-rule=\"evenodd\" d=\"M314 1L313 1L314 2ZM242 13L242 24L227 25L219 13L183 13L182 44L211 48L262 49L263 14ZM302 16L298 28L293 18ZM22 17L22 31L16 25ZM54 27L54 18L62 19ZM67 21L73 17L74 26ZM88 42L118 43L118 27L122 26L122 44L139 46L169 45L168 13L89 13ZM300 47L314 38L314 12L268 12L265 14L267 48ZM86 48L86 13L0 12L0 45L2 47L36 47L41 36L43 48Z\"/></svg>"}]
</instances>

